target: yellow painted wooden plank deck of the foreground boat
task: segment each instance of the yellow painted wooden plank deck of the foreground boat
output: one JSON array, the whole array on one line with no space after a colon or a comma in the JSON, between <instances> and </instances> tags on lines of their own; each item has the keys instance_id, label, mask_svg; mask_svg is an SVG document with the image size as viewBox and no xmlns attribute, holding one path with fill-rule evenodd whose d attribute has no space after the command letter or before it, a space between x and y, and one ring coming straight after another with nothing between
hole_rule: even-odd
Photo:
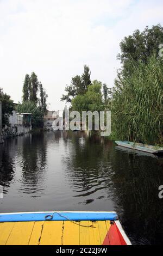
<instances>
[{"instance_id":1,"label":"yellow painted wooden plank deck of the foreground boat","mask_svg":"<svg viewBox=\"0 0 163 256\"><path fill-rule=\"evenodd\" d=\"M110 221L75 223L71 221L1 222L0 245L102 245L110 229ZM94 228L83 225L93 225Z\"/></svg>"}]
</instances>

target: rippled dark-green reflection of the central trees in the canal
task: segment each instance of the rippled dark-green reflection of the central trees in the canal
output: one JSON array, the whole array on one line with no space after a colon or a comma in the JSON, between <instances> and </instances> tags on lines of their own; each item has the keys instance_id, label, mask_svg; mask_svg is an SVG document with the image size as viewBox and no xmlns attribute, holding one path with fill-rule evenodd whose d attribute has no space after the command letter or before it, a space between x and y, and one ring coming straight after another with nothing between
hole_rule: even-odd
<instances>
[{"instance_id":1,"label":"rippled dark-green reflection of the central trees in the canal","mask_svg":"<svg viewBox=\"0 0 163 256\"><path fill-rule=\"evenodd\" d=\"M75 192L74 197L82 197L83 202L79 204L91 204L96 198L111 196L111 169L104 161L109 147L108 145L104 147L102 140L103 138L97 135L87 137L86 133L76 133L73 136L71 157L62 159L66 167L67 179L70 180L72 190ZM102 196L101 193L104 195Z\"/></svg>"}]
</instances>

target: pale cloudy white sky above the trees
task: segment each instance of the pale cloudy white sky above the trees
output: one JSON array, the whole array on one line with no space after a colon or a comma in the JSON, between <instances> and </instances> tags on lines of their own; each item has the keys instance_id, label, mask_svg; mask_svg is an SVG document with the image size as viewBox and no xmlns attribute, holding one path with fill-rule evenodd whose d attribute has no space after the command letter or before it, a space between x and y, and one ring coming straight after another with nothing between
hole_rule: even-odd
<instances>
[{"instance_id":1,"label":"pale cloudy white sky above the trees","mask_svg":"<svg viewBox=\"0 0 163 256\"><path fill-rule=\"evenodd\" d=\"M91 80L113 87L121 40L163 25L162 11L162 0L0 0L0 87L21 101L24 77L34 71L55 111L84 64Z\"/></svg>"}]
</instances>

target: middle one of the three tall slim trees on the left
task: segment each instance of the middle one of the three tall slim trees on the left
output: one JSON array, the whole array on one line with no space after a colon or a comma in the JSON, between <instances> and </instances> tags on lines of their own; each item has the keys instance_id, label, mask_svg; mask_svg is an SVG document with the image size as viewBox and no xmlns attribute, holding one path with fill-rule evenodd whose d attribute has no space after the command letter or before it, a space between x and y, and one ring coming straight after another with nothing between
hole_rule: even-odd
<instances>
[{"instance_id":1,"label":"middle one of the three tall slim trees on the left","mask_svg":"<svg viewBox=\"0 0 163 256\"><path fill-rule=\"evenodd\" d=\"M39 82L37 80L37 76L34 72L32 72L30 76L30 101L37 103L37 92L39 88Z\"/></svg>"}]
</instances>

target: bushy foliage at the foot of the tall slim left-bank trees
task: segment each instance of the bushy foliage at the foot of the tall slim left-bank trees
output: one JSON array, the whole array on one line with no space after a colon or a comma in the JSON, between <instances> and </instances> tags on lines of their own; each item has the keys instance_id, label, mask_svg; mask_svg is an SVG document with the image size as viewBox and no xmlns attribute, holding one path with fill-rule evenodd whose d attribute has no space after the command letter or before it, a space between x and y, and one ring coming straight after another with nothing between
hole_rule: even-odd
<instances>
[{"instance_id":1,"label":"bushy foliage at the foot of the tall slim left-bank trees","mask_svg":"<svg viewBox=\"0 0 163 256\"><path fill-rule=\"evenodd\" d=\"M43 111L35 102L24 101L22 104L19 103L16 110L19 113L31 113L32 126L39 126L42 123Z\"/></svg>"}]
</instances>

